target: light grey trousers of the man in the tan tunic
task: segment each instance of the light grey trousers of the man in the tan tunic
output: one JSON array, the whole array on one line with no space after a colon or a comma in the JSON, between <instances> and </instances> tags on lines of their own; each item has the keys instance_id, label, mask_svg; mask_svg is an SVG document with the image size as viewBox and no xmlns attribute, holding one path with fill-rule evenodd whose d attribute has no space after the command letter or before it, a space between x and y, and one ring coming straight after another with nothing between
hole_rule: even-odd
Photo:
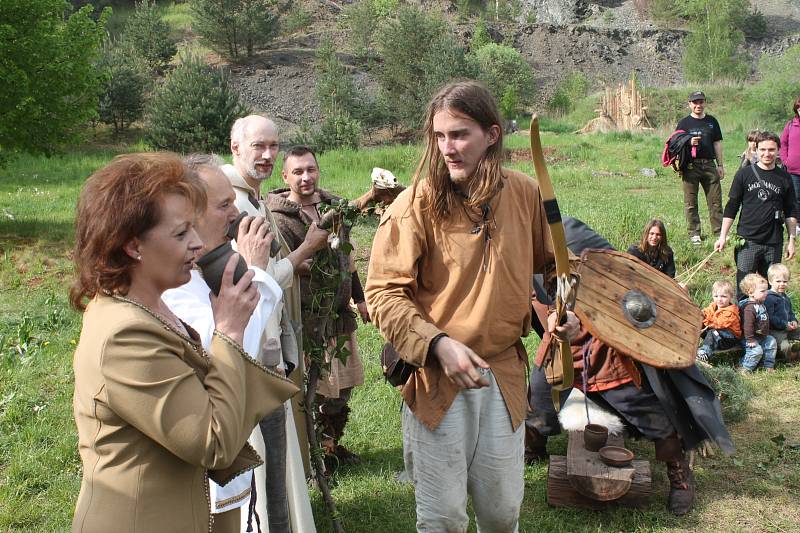
<instances>
[{"instance_id":1,"label":"light grey trousers of the man in the tan tunic","mask_svg":"<svg viewBox=\"0 0 800 533\"><path fill-rule=\"evenodd\" d=\"M467 494L480 533L516 533L524 491L524 426L511 418L491 372L489 386L458 393L431 431L403 405L403 456L414 483L417 531L467 530Z\"/></svg>"}]
</instances>

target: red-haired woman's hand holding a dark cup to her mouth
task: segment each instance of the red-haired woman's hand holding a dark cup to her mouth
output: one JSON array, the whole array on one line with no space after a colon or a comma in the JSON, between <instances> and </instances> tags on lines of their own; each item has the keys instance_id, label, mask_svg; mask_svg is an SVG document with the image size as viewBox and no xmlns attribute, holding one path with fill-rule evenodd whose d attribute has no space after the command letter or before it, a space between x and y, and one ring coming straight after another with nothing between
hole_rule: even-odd
<instances>
[{"instance_id":1,"label":"red-haired woman's hand holding a dark cup to her mouth","mask_svg":"<svg viewBox=\"0 0 800 533\"><path fill-rule=\"evenodd\" d=\"M269 248L267 248L269 249ZM219 296L211 294L211 310L214 313L216 329L239 344L244 338L244 328L258 303L258 290L252 283L254 273L248 270L236 285L233 272L239 262L239 254L233 254L222 273Z\"/></svg>"}]
</instances>

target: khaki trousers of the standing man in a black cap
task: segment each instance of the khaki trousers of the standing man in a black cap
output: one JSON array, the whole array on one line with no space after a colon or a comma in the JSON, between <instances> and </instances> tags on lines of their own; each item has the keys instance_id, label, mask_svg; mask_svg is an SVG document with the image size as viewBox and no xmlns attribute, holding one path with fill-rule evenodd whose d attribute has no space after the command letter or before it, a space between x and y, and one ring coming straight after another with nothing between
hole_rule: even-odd
<instances>
[{"instance_id":1,"label":"khaki trousers of the standing man in a black cap","mask_svg":"<svg viewBox=\"0 0 800 533\"><path fill-rule=\"evenodd\" d=\"M719 235L722 229L722 186L719 182L717 167L712 159L695 159L682 173L683 178L683 210L686 214L686 227L689 236L700 236L700 214L697 208L697 195L700 187L706 195L708 218L711 231Z\"/></svg>"}]
</instances>

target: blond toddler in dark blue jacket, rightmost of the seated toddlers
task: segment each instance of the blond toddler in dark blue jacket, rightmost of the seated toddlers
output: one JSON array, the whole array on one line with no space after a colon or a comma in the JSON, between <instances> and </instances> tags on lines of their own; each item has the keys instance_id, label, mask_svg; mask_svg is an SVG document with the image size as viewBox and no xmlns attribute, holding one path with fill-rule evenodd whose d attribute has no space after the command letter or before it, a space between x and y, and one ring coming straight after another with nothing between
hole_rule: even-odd
<instances>
[{"instance_id":1,"label":"blond toddler in dark blue jacket, rightmost of the seated toddlers","mask_svg":"<svg viewBox=\"0 0 800 533\"><path fill-rule=\"evenodd\" d=\"M800 329L792 309L792 300L786 294L789 285L789 268L782 263L773 263L767 270L770 291L764 306L769 315L769 334L775 338L778 354L789 361L800 359Z\"/></svg>"}]
</instances>

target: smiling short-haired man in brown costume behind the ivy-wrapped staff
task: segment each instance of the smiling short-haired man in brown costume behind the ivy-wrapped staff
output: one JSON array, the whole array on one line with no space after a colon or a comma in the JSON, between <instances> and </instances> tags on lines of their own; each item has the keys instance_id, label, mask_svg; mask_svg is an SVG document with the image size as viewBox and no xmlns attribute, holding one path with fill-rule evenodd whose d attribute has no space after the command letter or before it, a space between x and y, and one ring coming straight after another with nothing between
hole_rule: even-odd
<instances>
[{"instance_id":1,"label":"smiling short-haired man in brown costume behind the ivy-wrapped staff","mask_svg":"<svg viewBox=\"0 0 800 533\"><path fill-rule=\"evenodd\" d=\"M275 216L281 235L286 239L289 248L295 249L305 239L306 231L312 222L320 219L320 208L323 204L330 204L338 199L331 193L318 187L319 165L313 150L306 146L295 146L286 151L283 159L282 177L287 188L272 191L267 199L269 210ZM329 274L335 279L340 279L341 272L349 272L336 294L333 296L332 309L335 318L318 316L319 312L312 309L312 301L316 288L319 287L319 278L310 272L311 260L308 260L300 269L300 300L303 310L303 327L310 339L318 338L320 342L335 343L344 335L348 337L345 345L350 355L347 363L339 359L331 361L330 372L323 375L318 390L318 419L322 424L322 446L330 459L339 464L355 464L359 462L356 454L349 451L339 443L347 424L348 401L353 387L364 382L364 368L358 356L356 344L356 316L350 308L350 300L358 308L358 313L364 322L369 322L367 305L364 302L364 291L356 272L355 264L350 254L333 248L328 248L322 253L332 254L332 261L321 268L333 270ZM306 347L308 348L308 347Z\"/></svg>"}]
</instances>

